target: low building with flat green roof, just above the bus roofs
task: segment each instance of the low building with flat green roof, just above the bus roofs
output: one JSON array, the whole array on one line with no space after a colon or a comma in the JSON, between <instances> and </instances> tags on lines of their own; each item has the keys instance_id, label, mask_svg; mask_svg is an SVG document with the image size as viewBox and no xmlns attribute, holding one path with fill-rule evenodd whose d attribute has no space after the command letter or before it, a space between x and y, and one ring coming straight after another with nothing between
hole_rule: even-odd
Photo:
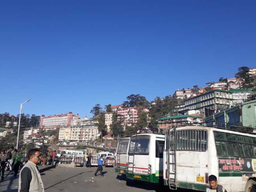
<instances>
[{"instance_id":1,"label":"low building with flat green roof, just above the bus roofs","mask_svg":"<svg viewBox=\"0 0 256 192\"><path fill-rule=\"evenodd\" d=\"M185 125L190 123L201 123L203 117L195 115L176 115L162 117L158 119L159 129L168 129L168 127Z\"/></svg>"}]
</instances>

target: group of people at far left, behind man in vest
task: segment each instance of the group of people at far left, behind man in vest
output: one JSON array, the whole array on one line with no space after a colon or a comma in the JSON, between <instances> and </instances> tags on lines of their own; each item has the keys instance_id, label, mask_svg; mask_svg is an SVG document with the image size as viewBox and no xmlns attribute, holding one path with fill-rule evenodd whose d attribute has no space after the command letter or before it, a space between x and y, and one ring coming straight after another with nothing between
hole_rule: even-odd
<instances>
[{"instance_id":1,"label":"group of people at far left, behind man in vest","mask_svg":"<svg viewBox=\"0 0 256 192\"><path fill-rule=\"evenodd\" d=\"M14 171L14 177L17 176L20 164L23 162L23 155L18 152L17 149L11 147L9 150L1 150L0 155L1 162L1 180L4 179L4 172L6 166L9 167L10 172Z\"/></svg>"}]
</instances>

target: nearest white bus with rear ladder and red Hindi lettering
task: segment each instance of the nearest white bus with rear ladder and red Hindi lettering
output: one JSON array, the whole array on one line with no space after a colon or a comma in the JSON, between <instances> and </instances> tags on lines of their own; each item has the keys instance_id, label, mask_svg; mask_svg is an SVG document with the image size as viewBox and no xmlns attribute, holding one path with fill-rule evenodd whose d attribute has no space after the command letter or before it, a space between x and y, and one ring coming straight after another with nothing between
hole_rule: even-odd
<instances>
[{"instance_id":1,"label":"nearest white bus with rear ladder and red Hindi lettering","mask_svg":"<svg viewBox=\"0 0 256 192\"><path fill-rule=\"evenodd\" d=\"M171 128L163 162L170 189L205 191L213 174L228 192L250 192L256 184L256 136L203 126Z\"/></svg>"}]
</instances>

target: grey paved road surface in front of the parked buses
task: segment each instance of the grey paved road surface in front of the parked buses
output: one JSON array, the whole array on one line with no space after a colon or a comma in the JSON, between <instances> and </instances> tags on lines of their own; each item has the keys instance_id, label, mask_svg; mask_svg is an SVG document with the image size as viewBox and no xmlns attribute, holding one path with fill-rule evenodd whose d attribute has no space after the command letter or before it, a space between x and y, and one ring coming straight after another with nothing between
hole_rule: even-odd
<instances>
[{"instance_id":1,"label":"grey paved road surface in front of the parked buses","mask_svg":"<svg viewBox=\"0 0 256 192\"><path fill-rule=\"evenodd\" d=\"M146 192L169 191L168 187L157 186L145 182L126 181L117 176L113 167L103 168L104 177L94 176L96 167L64 168L58 167L42 173L45 192ZM99 174L99 173L98 173ZM0 185L1 192L17 192L18 178L10 179Z\"/></svg>"}]
</instances>

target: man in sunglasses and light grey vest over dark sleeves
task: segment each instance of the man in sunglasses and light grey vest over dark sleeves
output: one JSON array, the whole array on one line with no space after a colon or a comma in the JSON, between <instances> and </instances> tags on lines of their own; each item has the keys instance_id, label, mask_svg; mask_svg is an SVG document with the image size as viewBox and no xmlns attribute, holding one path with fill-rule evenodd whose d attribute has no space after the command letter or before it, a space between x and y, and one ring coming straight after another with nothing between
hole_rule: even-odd
<instances>
[{"instance_id":1,"label":"man in sunglasses and light grey vest over dark sleeves","mask_svg":"<svg viewBox=\"0 0 256 192\"><path fill-rule=\"evenodd\" d=\"M43 181L37 167L41 154L38 149L28 151L28 162L22 167L19 174L18 192L44 192Z\"/></svg>"}]
</instances>

